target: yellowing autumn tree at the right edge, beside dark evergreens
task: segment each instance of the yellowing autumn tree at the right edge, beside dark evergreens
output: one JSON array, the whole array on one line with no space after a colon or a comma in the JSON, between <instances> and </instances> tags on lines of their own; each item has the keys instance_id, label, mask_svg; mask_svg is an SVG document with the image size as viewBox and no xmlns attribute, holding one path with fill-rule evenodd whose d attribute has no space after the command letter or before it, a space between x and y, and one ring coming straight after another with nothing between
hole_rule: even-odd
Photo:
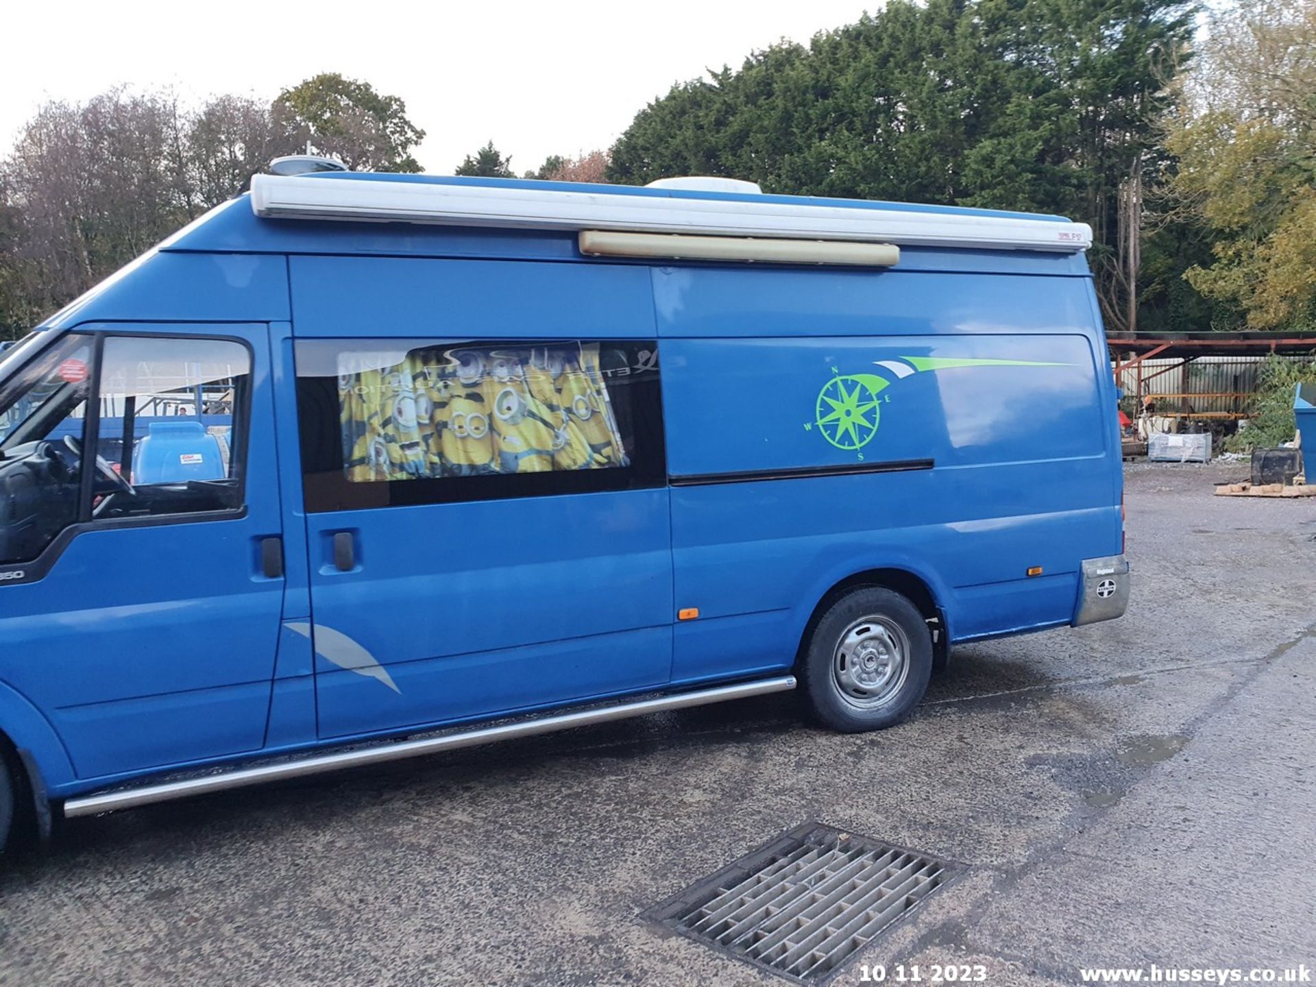
<instances>
[{"instance_id":1,"label":"yellowing autumn tree at the right edge, beside dark evergreens","mask_svg":"<svg viewBox=\"0 0 1316 987\"><path fill-rule=\"evenodd\" d=\"M1179 205L1215 236L1187 280L1253 329L1316 328L1316 1L1215 14L1167 146Z\"/></svg>"}]
</instances>

